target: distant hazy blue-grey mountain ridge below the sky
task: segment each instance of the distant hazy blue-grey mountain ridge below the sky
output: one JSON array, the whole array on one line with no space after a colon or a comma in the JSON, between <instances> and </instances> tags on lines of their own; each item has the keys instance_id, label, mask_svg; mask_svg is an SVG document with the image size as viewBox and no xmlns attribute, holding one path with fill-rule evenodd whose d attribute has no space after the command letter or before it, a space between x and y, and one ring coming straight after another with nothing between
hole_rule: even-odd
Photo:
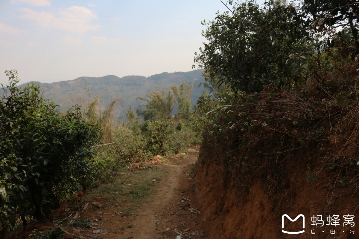
<instances>
[{"instance_id":1,"label":"distant hazy blue-grey mountain ridge below the sky","mask_svg":"<svg viewBox=\"0 0 359 239\"><path fill-rule=\"evenodd\" d=\"M202 94L203 86L198 88L200 82L204 82L201 70L188 72L163 72L150 77L145 76L124 76L118 77L108 75L103 77L79 77L69 81L53 83L41 83L33 81L41 86L43 97L55 101L60 105L59 110L66 110L71 106L79 104L79 101L89 101L92 96L102 94L102 107L106 107L112 99L121 97L123 101L117 104L116 115L121 120L123 115L132 105L132 110L137 109L144 101L137 100L138 96L145 97L151 91L155 91L156 85L169 89L169 86L176 82L178 85L186 79L186 83L194 82L192 92L192 106ZM25 84L21 85L24 86ZM92 96L90 96L92 95ZM177 110L177 109L176 109ZM176 112L173 112L176 113Z\"/></svg>"}]
</instances>

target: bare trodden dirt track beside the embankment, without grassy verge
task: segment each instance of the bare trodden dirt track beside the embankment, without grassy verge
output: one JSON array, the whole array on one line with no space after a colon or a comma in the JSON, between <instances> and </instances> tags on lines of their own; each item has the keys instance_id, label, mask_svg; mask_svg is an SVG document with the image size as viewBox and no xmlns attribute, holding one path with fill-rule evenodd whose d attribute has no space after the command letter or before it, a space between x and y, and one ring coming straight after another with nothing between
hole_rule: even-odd
<instances>
[{"instance_id":1,"label":"bare trodden dirt track beside the embankment, without grassy verge","mask_svg":"<svg viewBox=\"0 0 359 239\"><path fill-rule=\"evenodd\" d=\"M162 166L169 167L168 177L160 181L153 201L139 210L138 216L132 222L132 228L125 228L122 235L115 234L110 238L176 238L180 234L183 238L200 238L205 235L197 221L200 212L194 210L197 207L195 185L192 185L188 173L197 159L197 154L197 150L190 149L185 157L173 158L172 165ZM184 230L186 231L183 232Z\"/></svg>"}]
</instances>

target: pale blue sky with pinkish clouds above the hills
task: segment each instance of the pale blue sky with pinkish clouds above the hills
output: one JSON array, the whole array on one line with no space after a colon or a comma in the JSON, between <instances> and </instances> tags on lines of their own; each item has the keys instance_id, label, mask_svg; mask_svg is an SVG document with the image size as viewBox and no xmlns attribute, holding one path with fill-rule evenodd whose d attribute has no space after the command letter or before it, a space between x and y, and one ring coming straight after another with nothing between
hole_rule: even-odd
<instances>
[{"instance_id":1,"label":"pale blue sky with pinkish clouds above the hills","mask_svg":"<svg viewBox=\"0 0 359 239\"><path fill-rule=\"evenodd\" d=\"M225 2L225 1L224 1ZM0 83L191 71L220 0L0 0Z\"/></svg>"}]
</instances>

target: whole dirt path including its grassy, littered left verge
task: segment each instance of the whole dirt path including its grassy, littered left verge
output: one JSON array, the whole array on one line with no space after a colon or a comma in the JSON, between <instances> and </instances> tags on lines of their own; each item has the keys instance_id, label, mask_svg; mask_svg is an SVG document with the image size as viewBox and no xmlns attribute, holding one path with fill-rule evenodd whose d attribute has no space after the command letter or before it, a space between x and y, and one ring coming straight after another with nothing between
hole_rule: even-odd
<instances>
[{"instance_id":1,"label":"whole dirt path including its grassy, littered left verge","mask_svg":"<svg viewBox=\"0 0 359 239\"><path fill-rule=\"evenodd\" d=\"M163 165L150 163L144 170L118 173L112 182L61 205L54 219L64 223L66 239L202 238L205 221L200 220L190 174L197 156L197 149L188 149L184 157L171 157ZM50 221L35 222L18 238L53 226Z\"/></svg>"}]
</instances>

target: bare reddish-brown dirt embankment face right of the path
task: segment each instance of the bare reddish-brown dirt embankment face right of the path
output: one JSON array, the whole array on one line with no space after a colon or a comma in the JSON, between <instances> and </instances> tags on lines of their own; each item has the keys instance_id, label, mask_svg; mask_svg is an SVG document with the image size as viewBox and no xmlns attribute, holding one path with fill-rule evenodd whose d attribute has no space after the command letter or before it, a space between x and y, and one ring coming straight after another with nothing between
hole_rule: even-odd
<instances>
[{"instance_id":1,"label":"bare reddish-brown dirt embankment face right of the path","mask_svg":"<svg viewBox=\"0 0 359 239\"><path fill-rule=\"evenodd\" d=\"M263 179L253 175L250 188L240 192L241 188L231 183L223 158L205 153L202 156L206 163L197 163L196 197L201 205L201 220L208 224L209 238L359 238L358 194L339 183L335 189L329 189L328 177L308 182L306 176L313 172L315 163L310 159L298 157L288 163L285 166L286 182L278 182L288 186L270 198ZM294 223L285 218L282 229L283 214L292 219L303 214L305 228L302 218ZM355 216L354 227L353 224L343 226L343 215L348 214ZM324 225L311 225L313 215L322 215ZM339 225L327 225L329 215L339 215ZM291 235L282 230L304 230L304 233Z\"/></svg>"}]
</instances>

